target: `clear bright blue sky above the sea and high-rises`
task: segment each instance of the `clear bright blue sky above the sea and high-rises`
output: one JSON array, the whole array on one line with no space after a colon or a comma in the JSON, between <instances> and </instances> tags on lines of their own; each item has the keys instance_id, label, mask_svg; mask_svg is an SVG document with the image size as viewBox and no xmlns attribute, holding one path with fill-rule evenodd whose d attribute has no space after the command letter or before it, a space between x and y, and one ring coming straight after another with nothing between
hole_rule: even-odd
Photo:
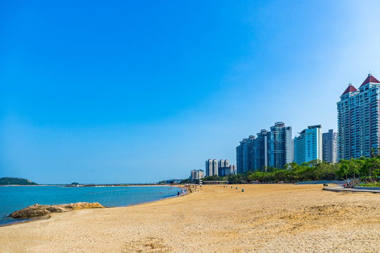
<instances>
[{"instance_id":1,"label":"clear bright blue sky above the sea and high-rises","mask_svg":"<svg viewBox=\"0 0 380 253\"><path fill-rule=\"evenodd\" d=\"M184 179L380 78L379 1L0 1L0 177Z\"/></svg>"}]
</instances>

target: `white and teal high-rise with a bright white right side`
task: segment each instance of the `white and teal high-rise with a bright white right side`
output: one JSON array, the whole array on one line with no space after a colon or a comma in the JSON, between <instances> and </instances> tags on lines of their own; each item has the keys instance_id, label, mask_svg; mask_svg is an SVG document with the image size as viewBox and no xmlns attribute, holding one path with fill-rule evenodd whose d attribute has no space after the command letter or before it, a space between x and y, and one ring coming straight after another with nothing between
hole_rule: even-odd
<instances>
[{"instance_id":1,"label":"white and teal high-rise with a bright white right side","mask_svg":"<svg viewBox=\"0 0 380 253\"><path fill-rule=\"evenodd\" d=\"M322 126L308 126L294 138L294 162L322 161Z\"/></svg>"}]
</instances>

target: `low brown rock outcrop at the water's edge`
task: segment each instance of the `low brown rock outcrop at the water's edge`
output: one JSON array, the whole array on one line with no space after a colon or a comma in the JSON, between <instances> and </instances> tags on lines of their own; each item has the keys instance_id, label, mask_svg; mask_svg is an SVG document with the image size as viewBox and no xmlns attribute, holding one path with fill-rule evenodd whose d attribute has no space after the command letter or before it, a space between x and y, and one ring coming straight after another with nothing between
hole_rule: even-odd
<instances>
[{"instance_id":1,"label":"low brown rock outcrop at the water's edge","mask_svg":"<svg viewBox=\"0 0 380 253\"><path fill-rule=\"evenodd\" d=\"M63 205L38 205L34 204L30 207L25 207L11 213L9 216L13 219L29 219L39 216L45 216L47 214L56 213L56 212L68 212L72 210L87 209L87 208L104 208L97 202L87 203L87 202L78 202L71 204Z\"/></svg>"}]
</instances>

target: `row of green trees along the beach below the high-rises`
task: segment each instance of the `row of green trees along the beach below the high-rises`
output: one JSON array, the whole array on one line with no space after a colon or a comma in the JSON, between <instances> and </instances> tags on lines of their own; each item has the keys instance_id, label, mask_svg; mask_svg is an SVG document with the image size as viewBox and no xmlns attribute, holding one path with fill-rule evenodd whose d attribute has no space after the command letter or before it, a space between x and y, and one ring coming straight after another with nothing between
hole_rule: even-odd
<instances>
[{"instance_id":1,"label":"row of green trees along the beach below the high-rises","mask_svg":"<svg viewBox=\"0 0 380 253\"><path fill-rule=\"evenodd\" d=\"M329 164L319 160L296 164L286 164L283 169L265 168L260 171L245 171L243 174L228 176L208 176L204 181L227 180L229 183L262 182L297 182L323 181L349 178L360 178L362 181L378 181L380 175L380 156L359 159L341 160Z\"/></svg>"}]
</instances>

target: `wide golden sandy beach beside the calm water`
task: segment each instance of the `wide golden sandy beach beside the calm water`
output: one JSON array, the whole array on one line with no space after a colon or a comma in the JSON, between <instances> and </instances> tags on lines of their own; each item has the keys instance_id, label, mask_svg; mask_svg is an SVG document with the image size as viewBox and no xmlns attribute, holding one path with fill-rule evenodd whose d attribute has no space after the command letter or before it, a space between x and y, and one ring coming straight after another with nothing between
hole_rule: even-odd
<instances>
[{"instance_id":1,"label":"wide golden sandy beach beside the calm water","mask_svg":"<svg viewBox=\"0 0 380 253\"><path fill-rule=\"evenodd\" d=\"M379 252L379 194L230 187L4 226L0 252Z\"/></svg>"}]
</instances>

